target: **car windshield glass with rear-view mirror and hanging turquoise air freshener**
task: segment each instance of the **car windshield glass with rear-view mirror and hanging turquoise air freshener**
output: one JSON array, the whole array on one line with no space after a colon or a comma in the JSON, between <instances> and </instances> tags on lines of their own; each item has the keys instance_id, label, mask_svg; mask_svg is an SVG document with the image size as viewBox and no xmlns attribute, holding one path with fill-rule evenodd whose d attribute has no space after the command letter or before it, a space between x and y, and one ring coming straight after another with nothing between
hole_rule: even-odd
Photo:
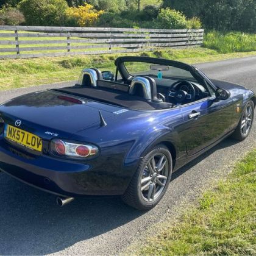
<instances>
[{"instance_id":1,"label":"car windshield glass with rear-view mirror and hanging turquoise air freshener","mask_svg":"<svg viewBox=\"0 0 256 256\"><path fill-rule=\"evenodd\" d=\"M148 62L124 62L127 72L131 76L151 76L158 78L174 78L179 80L192 80L196 79L192 76L190 71L182 68L176 68L168 65L157 65Z\"/></svg>"}]
</instances>

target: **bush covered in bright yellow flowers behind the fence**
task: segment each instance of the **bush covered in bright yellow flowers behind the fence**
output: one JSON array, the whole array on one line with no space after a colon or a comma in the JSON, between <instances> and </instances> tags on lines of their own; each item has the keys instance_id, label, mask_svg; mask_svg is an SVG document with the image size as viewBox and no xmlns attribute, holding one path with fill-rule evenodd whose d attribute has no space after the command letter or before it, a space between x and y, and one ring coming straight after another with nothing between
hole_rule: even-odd
<instances>
[{"instance_id":1,"label":"bush covered in bright yellow flowers behind the fence","mask_svg":"<svg viewBox=\"0 0 256 256\"><path fill-rule=\"evenodd\" d=\"M103 10L95 10L93 5L86 3L85 5L66 9L69 24L77 24L80 27L91 26L102 13L104 13Z\"/></svg>"}]
</instances>

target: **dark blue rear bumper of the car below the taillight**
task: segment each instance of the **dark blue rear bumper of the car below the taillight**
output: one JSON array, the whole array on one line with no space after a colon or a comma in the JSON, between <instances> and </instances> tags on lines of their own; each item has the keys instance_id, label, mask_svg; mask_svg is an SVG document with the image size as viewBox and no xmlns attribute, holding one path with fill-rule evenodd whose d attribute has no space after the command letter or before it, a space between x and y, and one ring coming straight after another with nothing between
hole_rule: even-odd
<instances>
[{"instance_id":1,"label":"dark blue rear bumper of the car below the taillight","mask_svg":"<svg viewBox=\"0 0 256 256\"><path fill-rule=\"evenodd\" d=\"M0 170L62 196L123 194L138 162L134 160L124 167L123 160L116 158L96 158L84 163L19 152L0 137Z\"/></svg>"}]
</instances>

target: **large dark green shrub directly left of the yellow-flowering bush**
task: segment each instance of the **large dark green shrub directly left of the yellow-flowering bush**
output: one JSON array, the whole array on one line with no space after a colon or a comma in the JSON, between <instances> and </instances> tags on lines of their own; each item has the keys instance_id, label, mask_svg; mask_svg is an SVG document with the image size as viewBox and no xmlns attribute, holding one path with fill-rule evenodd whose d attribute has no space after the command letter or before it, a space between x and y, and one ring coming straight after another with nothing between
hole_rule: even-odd
<instances>
[{"instance_id":1,"label":"large dark green shrub directly left of the yellow-flowering bush","mask_svg":"<svg viewBox=\"0 0 256 256\"><path fill-rule=\"evenodd\" d=\"M27 25L59 26L65 23L65 0L23 0L19 4Z\"/></svg>"}]
</instances>

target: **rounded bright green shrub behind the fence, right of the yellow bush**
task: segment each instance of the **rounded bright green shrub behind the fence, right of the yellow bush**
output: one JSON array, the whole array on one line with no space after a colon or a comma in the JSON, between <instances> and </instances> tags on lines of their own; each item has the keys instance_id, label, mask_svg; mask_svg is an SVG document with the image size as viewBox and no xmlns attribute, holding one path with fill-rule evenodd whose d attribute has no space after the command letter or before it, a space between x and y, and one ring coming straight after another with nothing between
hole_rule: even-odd
<instances>
[{"instance_id":1,"label":"rounded bright green shrub behind the fence, right of the yellow bush","mask_svg":"<svg viewBox=\"0 0 256 256\"><path fill-rule=\"evenodd\" d=\"M185 29L186 17L176 10L161 9L157 16L157 26L162 29Z\"/></svg>"}]
</instances>

